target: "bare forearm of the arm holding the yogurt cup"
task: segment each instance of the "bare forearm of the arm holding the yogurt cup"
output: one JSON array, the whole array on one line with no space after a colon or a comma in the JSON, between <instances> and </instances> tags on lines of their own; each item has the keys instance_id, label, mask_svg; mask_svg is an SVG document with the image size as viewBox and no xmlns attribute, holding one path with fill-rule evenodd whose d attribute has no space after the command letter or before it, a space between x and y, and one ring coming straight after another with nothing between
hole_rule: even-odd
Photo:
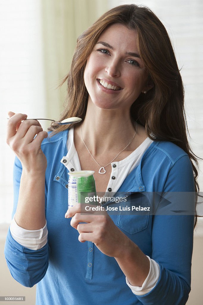
<instances>
[{"instance_id":1,"label":"bare forearm of the arm holding the yogurt cup","mask_svg":"<svg viewBox=\"0 0 203 305\"><path fill-rule=\"evenodd\" d=\"M127 236L122 248L123 251L115 259L130 284L141 287L149 274L149 259Z\"/></svg>"}]
</instances>

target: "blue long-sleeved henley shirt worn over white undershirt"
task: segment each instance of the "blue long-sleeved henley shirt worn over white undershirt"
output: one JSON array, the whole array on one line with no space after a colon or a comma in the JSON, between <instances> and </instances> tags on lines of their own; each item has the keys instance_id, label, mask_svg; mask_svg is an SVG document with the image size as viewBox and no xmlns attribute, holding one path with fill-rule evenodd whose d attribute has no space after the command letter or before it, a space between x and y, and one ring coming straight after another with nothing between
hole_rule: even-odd
<instances>
[{"instance_id":1,"label":"blue long-sleeved henley shirt worn over white undershirt","mask_svg":"<svg viewBox=\"0 0 203 305\"><path fill-rule=\"evenodd\" d=\"M68 205L68 170L60 160L67 154L68 130L44 139L47 157L45 212L48 243L31 250L16 242L8 231L5 257L12 276L22 285L37 284L36 304L64 305L182 305L191 281L193 246L192 215L111 215L114 223L160 267L152 291L135 296L114 257L100 252L92 242L78 241L79 233L64 214ZM14 166L16 211L22 167ZM194 192L194 176L188 155L171 142L152 142L140 164L131 171L118 192ZM192 193L191 193L192 194ZM194 196L191 197L194 205Z\"/></svg>"}]
</instances>

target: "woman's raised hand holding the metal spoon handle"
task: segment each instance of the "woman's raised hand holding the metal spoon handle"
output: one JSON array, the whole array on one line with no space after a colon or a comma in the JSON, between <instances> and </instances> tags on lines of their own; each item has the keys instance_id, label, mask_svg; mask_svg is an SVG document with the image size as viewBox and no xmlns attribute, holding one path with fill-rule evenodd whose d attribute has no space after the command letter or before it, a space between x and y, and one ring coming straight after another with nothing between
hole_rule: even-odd
<instances>
[{"instance_id":1,"label":"woman's raised hand holding the metal spoon handle","mask_svg":"<svg viewBox=\"0 0 203 305\"><path fill-rule=\"evenodd\" d=\"M47 138L47 132L37 120L26 120L26 114L9 111L8 115L6 142L21 161L23 170L33 174L45 173L47 159L41 143Z\"/></svg>"}]
</instances>

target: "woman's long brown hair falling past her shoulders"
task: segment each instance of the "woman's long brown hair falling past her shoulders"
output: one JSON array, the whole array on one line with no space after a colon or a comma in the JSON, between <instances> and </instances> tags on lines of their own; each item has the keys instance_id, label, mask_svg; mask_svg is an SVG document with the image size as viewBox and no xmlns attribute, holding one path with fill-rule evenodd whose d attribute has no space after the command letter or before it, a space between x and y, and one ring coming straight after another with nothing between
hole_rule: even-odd
<instances>
[{"instance_id":1,"label":"woman's long brown hair falling past her shoulders","mask_svg":"<svg viewBox=\"0 0 203 305\"><path fill-rule=\"evenodd\" d=\"M104 13L79 36L70 72L61 82L62 85L67 81L68 93L60 120L67 117L84 119L88 101L83 77L86 62L103 30L113 23L137 31L138 52L148 71L149 82L153 84L152 89L146 94L141 93L132 104L131 117L145 127L149 138L173 142L188 154L194 172L197 202L198 161L187 139L183 83L167 31L149 8L135 4L117 6ZM52 124L49 130L55 134L70 127ZM196 221L197 217L195 225Z\"/></svg>"}]
</instances>

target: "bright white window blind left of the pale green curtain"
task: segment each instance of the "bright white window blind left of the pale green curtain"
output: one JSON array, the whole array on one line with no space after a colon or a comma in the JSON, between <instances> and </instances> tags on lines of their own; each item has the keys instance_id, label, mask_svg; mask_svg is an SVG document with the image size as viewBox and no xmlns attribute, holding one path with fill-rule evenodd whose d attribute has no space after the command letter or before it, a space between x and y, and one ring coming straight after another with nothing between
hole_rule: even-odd
<instances>
[{"instance_id":1,"label":"bright white window blind left of the pale green curtain","mask_svg":"<svg viewBox=\"0 0 203 305\"><path fill-rule=\"evenodd\" d=\"M10 222L14 153L6 144L8 111L45 115L40 0L0 0L0 223Z\"/></svg>"}]
</instances>

